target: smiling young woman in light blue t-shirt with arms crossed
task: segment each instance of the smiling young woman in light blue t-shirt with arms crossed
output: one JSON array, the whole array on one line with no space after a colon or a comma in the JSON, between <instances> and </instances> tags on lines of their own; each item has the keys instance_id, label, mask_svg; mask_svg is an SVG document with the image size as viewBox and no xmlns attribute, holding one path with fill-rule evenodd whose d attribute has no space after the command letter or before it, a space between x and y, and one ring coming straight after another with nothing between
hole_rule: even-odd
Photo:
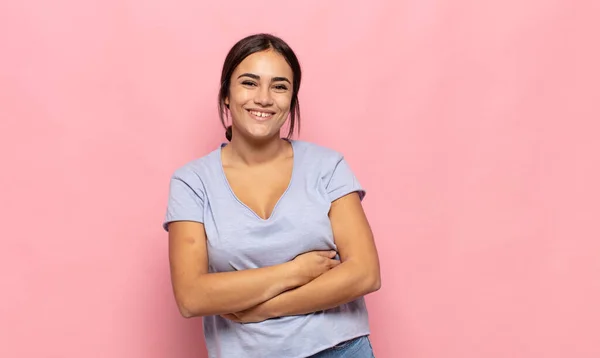
<instances>
[{"instance_id":1,"label":"smiling young woman in light blue t-shirt with arms crossed","mask_svg":"<svg viewBox=\"0 0 600 358\"><path fill-rule=\"evenodd\" d=\"M373 357L364 296L380 276L365 191L340 153L290 139L300 79L280 38L240 40L219 92L229 143L170 181L175 299L203 317L211 358Z\"/></svg>"}]
</instances>

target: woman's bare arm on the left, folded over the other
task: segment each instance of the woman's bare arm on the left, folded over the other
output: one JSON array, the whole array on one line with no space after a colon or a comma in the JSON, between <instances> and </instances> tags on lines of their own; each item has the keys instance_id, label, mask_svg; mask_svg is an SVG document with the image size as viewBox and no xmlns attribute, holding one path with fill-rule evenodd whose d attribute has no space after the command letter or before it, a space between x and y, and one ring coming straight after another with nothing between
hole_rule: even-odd
<instances>
[{"instance_id":1,"label":"woman's bare arm on the left, folded over the other","mask_svg":"<svg viewBox=\"0 0 600 358\"><path fill-rule=\"evenodd\" d=\"M191 221L169 224L171 282L179 311L186 318L254 307L337 266L334 256L335 252L311 252L280 265L208 273L204 225Z\"/></svg>"}]
</instances>

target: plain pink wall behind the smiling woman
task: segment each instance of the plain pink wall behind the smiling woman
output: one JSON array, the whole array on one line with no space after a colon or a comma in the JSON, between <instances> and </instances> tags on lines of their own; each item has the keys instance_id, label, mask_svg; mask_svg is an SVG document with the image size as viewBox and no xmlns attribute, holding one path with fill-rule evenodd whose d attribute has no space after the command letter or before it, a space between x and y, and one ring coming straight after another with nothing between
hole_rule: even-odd
<instances>
[{"instance_id":1,"label":"plain pink wall behind the smiling woman","mask_svg":"<svg viewBox=\"0 0 600 358\"><path fill-rule=\"evenodd\" d=\"M377 357L600 356L598 2L300 3L2 1L1 357L205 356L160 224L259 31L369 190Z\"/></svg>"}]
</instances>

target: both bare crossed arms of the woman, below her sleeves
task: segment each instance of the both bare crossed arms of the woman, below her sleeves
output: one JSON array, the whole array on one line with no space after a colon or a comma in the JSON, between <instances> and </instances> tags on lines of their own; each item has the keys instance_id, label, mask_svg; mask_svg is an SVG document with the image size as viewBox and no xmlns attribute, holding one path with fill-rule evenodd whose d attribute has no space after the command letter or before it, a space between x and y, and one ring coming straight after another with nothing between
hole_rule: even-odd
<instances>
[{"instance_id":1,"label":"both bare crossed arms of the woman, below her sleeves","mask_svg":"<svg viewBox=\"0 0 600 358\"><path fill-rule=\"evenodd\" d=\"M377 291L381 286L379 259L358 194L334 201L329 218L340 262L332 264L321 256L219 273L208 273L204 226L171 223L171 281L181 315L260 322L334 308ZM319 267L323 273L314 277Z\"/></svg>"}]
</instances>

